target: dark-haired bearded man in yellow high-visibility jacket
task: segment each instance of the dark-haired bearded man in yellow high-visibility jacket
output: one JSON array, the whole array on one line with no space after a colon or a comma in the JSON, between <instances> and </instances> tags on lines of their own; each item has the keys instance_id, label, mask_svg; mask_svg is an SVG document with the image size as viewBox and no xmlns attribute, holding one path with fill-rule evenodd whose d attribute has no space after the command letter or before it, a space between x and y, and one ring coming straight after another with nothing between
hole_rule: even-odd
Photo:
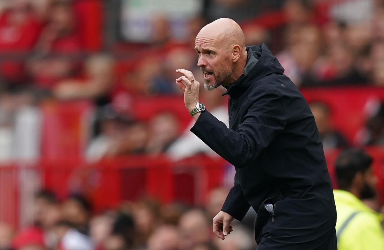
<instances>
[{"instance_id":1,"label":"dark-haired bearded man in yellow high-visibility jacket","mask_svg":"<svg viewBox=\"0 0 384 250\"><path fill-rule=\"evenodd\" d=\"M335 162L339 190L334 190L339 250L382 250L381 215L361 200L375 196L372 158L363 150L343 150Z\"/></svg>"}]
</instances>

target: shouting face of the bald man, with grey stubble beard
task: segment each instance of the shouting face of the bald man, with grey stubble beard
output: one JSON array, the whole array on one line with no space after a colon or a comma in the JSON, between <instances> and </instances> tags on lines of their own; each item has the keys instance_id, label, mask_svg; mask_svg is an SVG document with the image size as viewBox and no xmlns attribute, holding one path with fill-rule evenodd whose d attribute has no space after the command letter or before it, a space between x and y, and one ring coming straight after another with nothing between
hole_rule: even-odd
<instances>
[{"instance_id":1,"label":"shouting face of the bald man, with grey stubble beard","mask_svg":"<svg viewBox=\"0 0 384 250\"><path fill-rule=\"evenodd\" d=\"M232 73L230 49L217 38L197 36L195 50L199 55L197 66L204 73L204 88L214 90L220 85L226 85Z\"/></svg>"}]
</instances>

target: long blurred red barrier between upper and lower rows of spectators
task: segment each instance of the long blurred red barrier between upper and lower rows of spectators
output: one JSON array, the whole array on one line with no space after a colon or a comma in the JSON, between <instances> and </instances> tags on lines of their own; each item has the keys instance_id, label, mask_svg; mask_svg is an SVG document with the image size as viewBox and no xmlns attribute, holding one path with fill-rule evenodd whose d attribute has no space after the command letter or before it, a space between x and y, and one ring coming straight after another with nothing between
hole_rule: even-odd
<instances>
[{"instance_id":1,"label":"long blurred red barrier between upper and lower rows of spectators","mask_svg":"<svg viewBox=\"0 0 384 250\"><path fill-rule=\"evenodd\" d=\"M367 148L374 158L373 170L377 177L377 192L384 204L384 148ZM329 173L334 182L333 162L338 150L325 152ZM22 174L26 169L41 177L41 185L54 191L59 199L71 192L84 193L93 203L94 212L116 208L123 200L137 200L142 196L157 198L163 203L179 201L190 205L204 205L209 191L222 185L228 163L197 155L179 162L165 157L147 156L109 159L97 164L87 164L76 159L47 160L31 167L17 165L0 167L0 221L20 226L24 186L35 186ZM25 183L27 182L27 183ZM28 191L28 190L27 190ZM31 190L28 192L30 193ZM31 200L31 197L29 197ZM29 206L33 203L29 203Z\"/></svg>"}]
</instances>

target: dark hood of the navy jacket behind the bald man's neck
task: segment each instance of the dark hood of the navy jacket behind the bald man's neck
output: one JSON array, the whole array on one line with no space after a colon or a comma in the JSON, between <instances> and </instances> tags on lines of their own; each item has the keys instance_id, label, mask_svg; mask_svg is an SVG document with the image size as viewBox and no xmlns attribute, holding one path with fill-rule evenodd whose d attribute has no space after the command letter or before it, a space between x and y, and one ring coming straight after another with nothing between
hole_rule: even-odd
<instances>
[{"instance_id":1,"label":"dark hood of the navy jacket behind the bald man's neck","mask_svg":"<svg viewBox=\"0 0 384 250\"><path fill-rule=\"evenodd\" d=\"M246 49L248 57L244 73L227 88L227 92L223 95L230 95L231 92L240 90L240 88L248 88L251 83L266 75L273 73L282 75L284 73L284 68L265 43L261 46L248 46Z\"/></svg>"}]
</instances>

